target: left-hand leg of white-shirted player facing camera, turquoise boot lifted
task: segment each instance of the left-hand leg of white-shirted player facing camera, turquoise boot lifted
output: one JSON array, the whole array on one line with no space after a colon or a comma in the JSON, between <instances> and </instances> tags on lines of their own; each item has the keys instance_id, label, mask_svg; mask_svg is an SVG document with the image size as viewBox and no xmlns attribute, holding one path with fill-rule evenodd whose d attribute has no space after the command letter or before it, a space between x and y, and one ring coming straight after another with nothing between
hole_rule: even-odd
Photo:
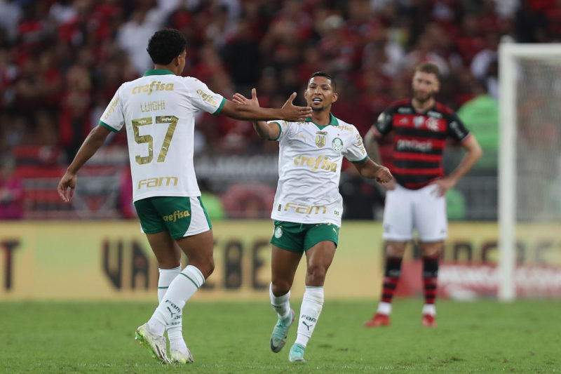
<instances>
[{"instance_id":1,"label":"left-hand leg of white-shirted player facing camera, turquoise boot lifted","mask_svg":"<svg viewBox=\"0 0 561 374\"><path fill-rule=\"evenodd\" d=\"M286 251L272 246L271 253L271 286L269 295L271 305L278 315L278 321L271 334L271 351L280 352L285 346L288 329L292 326L295 313L290 309L290 288L302 253Z\"/></svg>"}]
</instances>

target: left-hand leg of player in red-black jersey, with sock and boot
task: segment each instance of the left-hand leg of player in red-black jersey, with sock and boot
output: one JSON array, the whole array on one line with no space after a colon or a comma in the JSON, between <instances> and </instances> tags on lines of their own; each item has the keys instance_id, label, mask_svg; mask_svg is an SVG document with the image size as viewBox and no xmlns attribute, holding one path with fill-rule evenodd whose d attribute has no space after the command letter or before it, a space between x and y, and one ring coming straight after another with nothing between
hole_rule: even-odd
<instances>
[{"instance_id":1,"label":"left-hand leg of player in red-black jersey, with sock and boot","mask_svg":"<svg viewBox=\"0 0 561 374\"><path fill-rule=\"evenodd\" d=\"M401 260L407 248L407 241L387 241L386 265L384 270L384 282L382 283L381 298L377 312L372 319L365 322L366 327L378 327L390 325L391 300L396 292L398 281L401 276Z\"/></svg>"}]
</instances>

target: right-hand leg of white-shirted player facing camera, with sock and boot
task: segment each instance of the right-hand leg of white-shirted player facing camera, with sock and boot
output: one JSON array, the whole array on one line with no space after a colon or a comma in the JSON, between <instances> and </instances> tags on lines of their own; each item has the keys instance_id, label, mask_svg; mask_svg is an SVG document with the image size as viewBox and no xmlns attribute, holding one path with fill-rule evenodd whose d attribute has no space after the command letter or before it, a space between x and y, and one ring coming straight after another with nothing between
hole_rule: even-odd
<instances>
[{"instance_id":1,"label":"right-hand leg of white-shirted player facing camera, with sock and boot","mask_svg":"<svg viewBox=\"0 0 561 374\"><path fill-rule=\"evenodd\" d=\"M290 348L290 362L306 362L304 349L323 309L323 283L335 255L335 243L320 241L306 251L306 291L302 298L296 342Z\"/></svg>"}]
</instances>

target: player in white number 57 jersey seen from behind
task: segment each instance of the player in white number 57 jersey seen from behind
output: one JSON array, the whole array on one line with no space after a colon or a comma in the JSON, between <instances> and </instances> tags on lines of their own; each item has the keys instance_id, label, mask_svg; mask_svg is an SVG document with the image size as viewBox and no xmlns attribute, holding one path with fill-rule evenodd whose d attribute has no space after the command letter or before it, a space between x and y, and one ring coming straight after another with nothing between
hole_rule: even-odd
<instances>
[{"instance_id":1,"label":"player in white number 57 jersey seen from behind","mask_svg":"<svg viewBox=\"0 0 561 374\"><path fill-rule=\"evenodd\" d=\"M147 51L154 69L119 87L58 185L61 199L70 201L81 166L111 131L126 127L133 200L160 270L160 304L149 321L137 328L136 337L162 363L193 362L182 336L183 307L215 266L212 226L201 202L193 164L195 116L204 111L234 119L280 116L295 121L311 114L310 107L292 105L296 93L282 109L259 108L226 100L198 79L180 76L186 44L176 29L163 29L151 36ZM182 251L189 260L183 270Z\"/></svg>"}]
</instances>

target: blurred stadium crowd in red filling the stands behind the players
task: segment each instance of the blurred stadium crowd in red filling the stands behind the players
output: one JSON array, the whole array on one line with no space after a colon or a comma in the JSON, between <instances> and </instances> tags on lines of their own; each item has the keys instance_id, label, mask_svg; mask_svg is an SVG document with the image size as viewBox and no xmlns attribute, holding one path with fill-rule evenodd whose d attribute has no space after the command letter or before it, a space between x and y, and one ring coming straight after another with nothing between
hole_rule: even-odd
<instances>
[{"instance_id":1,"label":"blurred stadium crowd in red filling the stands behind the players","mask_svg":"<svg viewBox=\"0 0 561 374\"><path fill-rule=\"evenodd\" d=\"M303 104L302 82L330 72L333 114L365 135L409 95L417 62L440 67L438 100L452 109L496 100L499 41L559 41L560 21L555 0L2 0L0 149L16 169L22 147L50 149L45 164L72 159L120 84L151 68L147 40L163 27L187 36L184 75L225 97L257 87L264 106L294 91ZM496 123L490 132L496 148ZM276 152L222 116L201 114L196 136L198 154ZM125 134L110 142L126 147Z\"/></svg>"}]
</instances>

